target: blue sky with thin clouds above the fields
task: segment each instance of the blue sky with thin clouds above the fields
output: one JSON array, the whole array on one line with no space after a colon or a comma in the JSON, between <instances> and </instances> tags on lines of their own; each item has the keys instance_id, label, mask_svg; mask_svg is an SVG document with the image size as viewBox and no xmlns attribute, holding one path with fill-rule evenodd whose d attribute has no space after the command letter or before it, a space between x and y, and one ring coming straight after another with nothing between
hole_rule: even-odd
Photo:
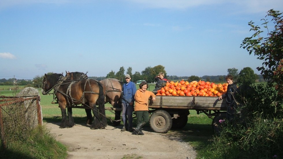
<instances>
[{"instance_id":1,"label":"blue sky with thin clouds above the fields","mask_svg":"<svg viewBox=\"0 0 283 159\"><path fill-rule=\"evenodd\" d=\"M0 79L66 71L100 77L120 67L134 74L157 65L172 76L245 67L260 74L263 61L240 45L254 33L248 22L261 26L270 9L282 12L283 2L1 0Z\"/></svg>"}]
</instances>

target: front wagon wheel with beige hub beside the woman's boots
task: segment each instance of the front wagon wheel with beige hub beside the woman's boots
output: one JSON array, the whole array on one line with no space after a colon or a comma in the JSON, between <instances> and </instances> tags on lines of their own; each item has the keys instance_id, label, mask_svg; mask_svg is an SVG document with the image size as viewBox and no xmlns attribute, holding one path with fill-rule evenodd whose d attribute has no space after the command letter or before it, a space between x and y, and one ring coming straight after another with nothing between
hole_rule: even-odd
<instances>
[{"instance_id":1,"label":"front wagon wheel with beige hub beside the woman's boots","mask_svg":"<svg viewBox=\"0 0 283 159\"><path fill-rule=\"evenodd\" d=\"M156 110L150 115L150 127L157 133L167 133L172 127L172 118L165 110Z\"/></svg>"}]
</instances>

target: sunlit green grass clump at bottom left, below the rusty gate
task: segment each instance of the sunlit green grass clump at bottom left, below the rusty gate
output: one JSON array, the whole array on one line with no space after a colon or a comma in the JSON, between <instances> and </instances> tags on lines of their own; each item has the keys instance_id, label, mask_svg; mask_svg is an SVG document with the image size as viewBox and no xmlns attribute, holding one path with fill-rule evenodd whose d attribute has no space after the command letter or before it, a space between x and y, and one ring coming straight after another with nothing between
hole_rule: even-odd
<instances>
[{"instance_id":1,"label":"sunlit green grass clump at bottom left, below the rusty gate","mask_svg":"<svg viewBox=\"0 0 283 159\"><path fill-rule=\"evenodd\" d=\"M7 148L0 147L0 158L64 159L67 148L55 140L45 127L37 127L23 135L21 140L11 141Z\"/></svg>"}]
</instances>

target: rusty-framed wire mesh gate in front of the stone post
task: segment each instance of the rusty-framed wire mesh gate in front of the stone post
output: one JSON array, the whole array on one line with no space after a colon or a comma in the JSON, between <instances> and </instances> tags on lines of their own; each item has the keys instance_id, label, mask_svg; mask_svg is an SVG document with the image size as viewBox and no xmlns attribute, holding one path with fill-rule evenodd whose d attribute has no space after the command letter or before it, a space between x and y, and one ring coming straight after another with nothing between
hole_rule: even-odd
<instances>
[{"instance_id":1,"label":"rusty-framed wire mesh gate in front of the stone post","mask_svg":"<svg viewBox=\"0 0 283 159\"><path fill-rule=\"evenodd\" d=\"M4 147L10 141L23 137L42 125L40 96L5 97L0 96L0 134ZM28 135L28 134L26 134Z\"/></svg>"}]
</instances>

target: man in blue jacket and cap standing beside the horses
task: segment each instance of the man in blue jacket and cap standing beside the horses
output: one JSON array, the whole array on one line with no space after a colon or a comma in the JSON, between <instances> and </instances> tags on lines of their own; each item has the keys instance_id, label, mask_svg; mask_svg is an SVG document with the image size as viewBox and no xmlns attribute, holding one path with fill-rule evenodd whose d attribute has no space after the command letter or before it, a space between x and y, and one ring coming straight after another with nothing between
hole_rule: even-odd
<instances>
[{"instance_id":1,"label":"man in blue jacket and cap standing beside the horses","mask_svg":"<svg viewBox=\"0 0 283 159\"><path fill-rule=\"evenodd\" d=\"M134 131L133 129L133 111L134 111L134 101L135 93L137 91L135 83L131 81L131 76L126 74L126 82L124 83L122 90L122 120L124 127L121 131Z\"/></svg>"}]
</instances>

